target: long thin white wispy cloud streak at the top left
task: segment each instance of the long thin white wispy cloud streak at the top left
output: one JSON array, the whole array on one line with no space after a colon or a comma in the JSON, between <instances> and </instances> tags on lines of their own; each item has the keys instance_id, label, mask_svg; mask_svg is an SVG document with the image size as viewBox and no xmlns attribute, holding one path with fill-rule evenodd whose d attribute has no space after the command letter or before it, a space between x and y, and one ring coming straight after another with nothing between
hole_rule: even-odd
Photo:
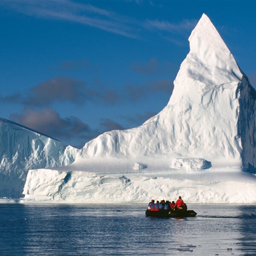
<instances>
[{"instance_id":1,"label":"long thin white wispy cloud streak at the top left","mask_svg":"<svg viewBox=\"0 0 256 256\"><path fill-rule=\"evenodd\" d=\"M24 15L44 19L66 20L96 27L108 32L136 38L131 28L132 21L114 12L100 9L90 4L69 0L3 0L0 5Z\"/></svg>"}]
</instances>

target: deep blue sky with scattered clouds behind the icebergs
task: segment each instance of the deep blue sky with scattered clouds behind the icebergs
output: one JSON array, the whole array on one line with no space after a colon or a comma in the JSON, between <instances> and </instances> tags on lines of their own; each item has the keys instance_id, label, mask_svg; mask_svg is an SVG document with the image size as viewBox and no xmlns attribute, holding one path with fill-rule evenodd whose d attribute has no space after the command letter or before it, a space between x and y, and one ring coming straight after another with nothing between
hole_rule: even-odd
<instances>
[{"instance_id":1,"label":"deep blue sky with scattered clouds behind the icebergs","mask_svg":"<svg viewBox=\"0 0 256 256\"><path fill-rule=\"evenodd\" d=\"M81 148L160 112L205 13L256 87L254 0L1 0L0 117Z\"/></svg>"}]
</instances>

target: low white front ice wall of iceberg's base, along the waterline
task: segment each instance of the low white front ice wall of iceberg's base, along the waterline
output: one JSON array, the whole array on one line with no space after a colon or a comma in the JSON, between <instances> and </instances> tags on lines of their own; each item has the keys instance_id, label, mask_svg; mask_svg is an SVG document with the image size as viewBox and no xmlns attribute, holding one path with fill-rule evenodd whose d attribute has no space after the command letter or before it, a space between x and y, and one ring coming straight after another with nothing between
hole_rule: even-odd
<instances>
[{"instance_id":1,"label":"low white front ice wall of iceberg's base, along the waterline","mask_svg":"<svg viewBox=\"0 0 256 256\"><path fill-rule=\"evenodd\" d=\"M238 170L201 172L103 175L82 171L30 170L23 202L146 204L152 198L176 201L181 195L186 203L255 203L256 182L251 175ZM67 175L69 179L64 182Z\"/></svg>"}]
</instances>

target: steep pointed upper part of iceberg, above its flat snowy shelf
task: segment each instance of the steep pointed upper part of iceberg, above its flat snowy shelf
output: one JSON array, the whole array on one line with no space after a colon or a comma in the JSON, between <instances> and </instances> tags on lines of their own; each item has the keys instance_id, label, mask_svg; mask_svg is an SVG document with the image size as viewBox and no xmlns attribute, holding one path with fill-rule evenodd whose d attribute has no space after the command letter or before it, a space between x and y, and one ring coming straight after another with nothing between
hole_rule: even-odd
<instances>
[{"instance_id":1,"label":"steep pointed upper part of iceberg, above its flat snowy shelf","mask_svg":"<svg viewBox=\"0 0 256 256\"><path fill-rule=\"evenodd\" d=\"M140 127L110 131L86 143L88 157L223 159L256 166L255 90L218 31L203 15L189 37L168 105ZM169 163L168 163L169 166Z\"/></svg>"}]
</instances>

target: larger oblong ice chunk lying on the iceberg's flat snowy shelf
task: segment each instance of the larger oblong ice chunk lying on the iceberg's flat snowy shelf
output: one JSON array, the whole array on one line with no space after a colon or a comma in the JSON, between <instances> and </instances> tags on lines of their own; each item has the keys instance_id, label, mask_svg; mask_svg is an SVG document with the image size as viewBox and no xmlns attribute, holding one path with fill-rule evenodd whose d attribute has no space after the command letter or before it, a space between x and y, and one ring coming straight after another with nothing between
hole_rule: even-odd
<instances>
[{"instance_id":1,"label":"larger oblong ice chunk lying on the iceberg's flat snowy shelf","mask_svg":"<svg viewBox=\"0 0 256 256\"><path fill-rule=\"evenodd\" d=\"M177 158L172 161L171 168L184 170L204 170L212 167L212 163L203 158Z\"/></svg>"}]
</instances>

